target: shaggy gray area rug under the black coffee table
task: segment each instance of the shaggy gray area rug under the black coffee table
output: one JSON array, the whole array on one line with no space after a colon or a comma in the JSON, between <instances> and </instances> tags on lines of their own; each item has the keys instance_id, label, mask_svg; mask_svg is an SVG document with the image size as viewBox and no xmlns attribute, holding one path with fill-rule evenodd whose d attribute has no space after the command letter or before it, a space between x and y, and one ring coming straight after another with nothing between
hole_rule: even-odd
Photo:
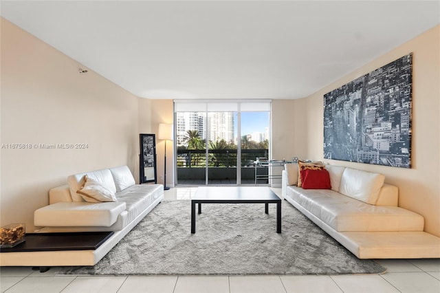
<instances>
[{"instance_id":1,"label":"shaggy gray area rug under the black coffee table","mask_svg":"<svg viewBox=\"0 0 440 293\"><path fill-rule=\"evenodd\" d=\"M281 234L276 205L202 204L190 234L190 201L154 208L99 263L52 268L56 274L377 274L294 206L283 201Z\"/></svg>"}]
</instances>

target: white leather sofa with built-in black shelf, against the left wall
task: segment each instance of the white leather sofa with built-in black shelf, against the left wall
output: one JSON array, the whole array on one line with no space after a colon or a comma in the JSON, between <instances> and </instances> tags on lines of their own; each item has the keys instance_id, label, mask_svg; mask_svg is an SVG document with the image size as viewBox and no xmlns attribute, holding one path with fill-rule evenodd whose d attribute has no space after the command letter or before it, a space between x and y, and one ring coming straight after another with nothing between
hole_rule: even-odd
<instances>
[{"instance_id":1,"label":"white leather sofa with built-in black shelf, against the left wall","mask_svg":"<svg viewBox=\"0 0 440 293\"><path fill-rule=\"evenodd\" d=\"M76 191L85 175L115 193L116 202L85 202ZM34 212L35 232L113 231L96 250L8 252L1 265L95 265L164 198L162 184L135 184L127 166L78 173L49 191L49 205Z\"/></svg>"}]
</instances>

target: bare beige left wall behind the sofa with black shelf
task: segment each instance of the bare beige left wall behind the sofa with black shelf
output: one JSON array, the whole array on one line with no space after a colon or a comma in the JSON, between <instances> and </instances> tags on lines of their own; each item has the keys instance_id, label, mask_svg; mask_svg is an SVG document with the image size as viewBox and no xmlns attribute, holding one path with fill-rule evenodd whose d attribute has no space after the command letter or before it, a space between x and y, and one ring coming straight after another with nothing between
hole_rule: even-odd
<instances>
[{"instance_id":1,"label":"bare beige left wall behind the sofa with black shelf","mask_svg":"<svg viewBox=\"0 0 440 293\"><path fill-rule=\"evenodd\" d=\"M138 100L1 19L1 225L25 222L67 175L128 164L137 176ZM34 144L87 144L38 149Z\"/></svg>"}]
</instances>

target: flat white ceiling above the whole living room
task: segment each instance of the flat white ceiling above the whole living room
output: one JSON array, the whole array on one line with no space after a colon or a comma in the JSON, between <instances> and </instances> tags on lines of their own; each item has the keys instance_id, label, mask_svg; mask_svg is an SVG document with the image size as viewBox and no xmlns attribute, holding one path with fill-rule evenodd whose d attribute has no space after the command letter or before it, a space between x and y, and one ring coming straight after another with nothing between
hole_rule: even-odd
<instances>
[{"instance_id":1,"label":"flat white ceiling above the whole living room","mask_svg":"<svg viewBox=\"0 0 440 293\"><path fill-rule=\"evenodd\" d=\"M439 1L0 5L5 19L142 98L303 98L440 23Z\"/></svg>"}]
</instances>

